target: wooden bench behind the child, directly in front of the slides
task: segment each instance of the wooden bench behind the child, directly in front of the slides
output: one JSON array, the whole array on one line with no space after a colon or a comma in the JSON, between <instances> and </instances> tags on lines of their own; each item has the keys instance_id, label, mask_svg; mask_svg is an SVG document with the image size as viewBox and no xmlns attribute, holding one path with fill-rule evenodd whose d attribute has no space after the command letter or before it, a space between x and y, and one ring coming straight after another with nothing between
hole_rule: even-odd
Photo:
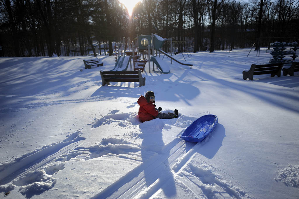
<instances>
[{"instance_id":1,"label":"wooden bench behind the child, directly in front of the slides","mask_svg":"<svg viewBox=\"0 0 299 199\"><path fill-rule=\"evenodd\" d=\"M145 77L141 71L100 71L102 85L109 85L109 82L139 82L139 87L145 85Z\"/></svg>"}]
</instances>

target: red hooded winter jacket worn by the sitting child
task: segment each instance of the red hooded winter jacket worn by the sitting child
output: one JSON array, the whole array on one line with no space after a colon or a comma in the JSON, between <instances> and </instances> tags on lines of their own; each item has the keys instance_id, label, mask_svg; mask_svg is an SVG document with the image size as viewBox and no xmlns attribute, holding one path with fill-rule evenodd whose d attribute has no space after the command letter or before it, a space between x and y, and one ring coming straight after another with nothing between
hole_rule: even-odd
<instances>
[{"instance_id":1,"label":"red hooded winter jacket worn by the sitting child","mask_svg":"<svg viewBox=\"0 0 299 199\"><path fill-rule=\"evenodd\" d=\"M158 111L155 109L155 106L152 102L147 102L147 99L141 95L137 101L139 104L138 116L141 122L149 121L155 119L158 115Z\"/></svg>"}]
</instances>

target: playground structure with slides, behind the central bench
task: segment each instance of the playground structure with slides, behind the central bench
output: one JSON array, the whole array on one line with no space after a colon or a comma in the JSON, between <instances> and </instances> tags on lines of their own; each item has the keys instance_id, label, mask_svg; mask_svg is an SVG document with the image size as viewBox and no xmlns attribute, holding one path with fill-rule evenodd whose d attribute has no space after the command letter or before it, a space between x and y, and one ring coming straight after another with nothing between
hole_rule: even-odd
<instances>
[{"instance_id":1,"label":"playground structure with slides, behind the central bench","mask_svg":"<svg viewBox=\"0 0 299 199\"><path fill-rule=\"evenodd\" d=\"M170 41L170 54L161 50L164 42ZM175 41L178 42L178 41ZM128 44L125 42L123 37L123 42L117 42L115 44L114 53L116 58L116 63L114 69L111 71L125 71L128 68L129 62L131 63L131 58L133 59L133 66L135 70L144 71L145 65L148 62L149 73L151 72L151 63L152 70L155 71L154 65L156 64L157 68L164 74L170 73L170 66L167 62L163 60L166 55L170 58L170 63L172 61L178 62L181 65L190 66L190 69L193 64L183 63L172 56L172 38L164 39L156 34L151 35L137 35L137 38L134 38L132 41L128 38ZM160 54L164 54L163 58L160 58ZM189 52L190 53L190 52ZM124 55L124 56L123 56ZM190 54L191 55L191 54ZM130 56L128 58L128 56ZM184 55L183 55L184 56ZM189 56L189 55L188 55ZM184 57L185 59L185 57ZM185 59L186 61L186 59ZM132 64L130 64L132 69Z\"/></svg>"}]
</instances>

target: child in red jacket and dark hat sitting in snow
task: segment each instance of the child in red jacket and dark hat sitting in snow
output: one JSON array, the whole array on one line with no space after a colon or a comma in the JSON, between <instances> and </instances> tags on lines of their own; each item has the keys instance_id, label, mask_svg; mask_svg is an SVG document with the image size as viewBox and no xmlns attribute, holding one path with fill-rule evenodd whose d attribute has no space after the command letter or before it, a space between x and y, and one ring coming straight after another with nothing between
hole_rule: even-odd
<instances>
[{"instance_id":1,"label":"child in red jacket and dark hat sitting in snow","mask_svg":"<svg viewBox=\"0 0 299 199\"><path fill-rule=\"evenodd\" d=\"M172 119L177 118L179 115L179 111L176 109L174 110L174 113L166 114L159 112L162 111L162 108L155 108L155 94L153 91L147 91L145 97L141 95L137 103L140 105L138 116L141 122L149 121L155 118Z\"/></svg>"}]
</instances>

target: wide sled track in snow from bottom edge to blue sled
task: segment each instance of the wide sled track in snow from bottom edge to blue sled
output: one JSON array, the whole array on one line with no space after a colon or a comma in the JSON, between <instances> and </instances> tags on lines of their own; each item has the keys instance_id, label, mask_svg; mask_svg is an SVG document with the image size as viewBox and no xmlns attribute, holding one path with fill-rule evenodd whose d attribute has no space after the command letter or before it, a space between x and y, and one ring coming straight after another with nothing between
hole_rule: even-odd
<instances>
[{"instance_id":1,"label":"wide sled track in snow from bottom edge to blue sled","mask_svg":"<svg viewBox=\"0 0 299 199\"><path fill-rule=\"evenodd\" d=\"M149 198L161 188L160 184L164 184L164 182L173 177L171 170L179 171L193 155L192 150L188 152L187 148L192 149L195 144L184 143L181 139L176 138L166 146L162 154L155 154L92 199L134 198L144 189L152 186L151 189L146 191L144 196L144 198ZM165 168L171 174L165 175ZM158 186L155 186L157 184Z\"/></svg>"}]
</instances>

